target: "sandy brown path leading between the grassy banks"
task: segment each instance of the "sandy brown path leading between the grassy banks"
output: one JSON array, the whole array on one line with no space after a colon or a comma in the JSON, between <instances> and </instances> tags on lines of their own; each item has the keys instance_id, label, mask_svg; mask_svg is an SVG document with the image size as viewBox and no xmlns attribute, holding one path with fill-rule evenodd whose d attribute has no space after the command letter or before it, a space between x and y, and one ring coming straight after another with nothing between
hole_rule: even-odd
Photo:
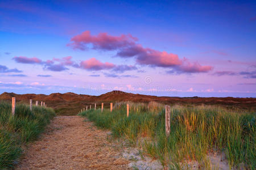
<instances>
[{"instance_id":1,"label":"sandy brown path leading between the grassy banks","mask_svg":"<svg viewBox=\"0 0 256 170\"><path fill-rule=\"evenodd\" d=\"M16 169L128 169L106 131L79 116L57 116Z\"/></svg>"}]
</instances>

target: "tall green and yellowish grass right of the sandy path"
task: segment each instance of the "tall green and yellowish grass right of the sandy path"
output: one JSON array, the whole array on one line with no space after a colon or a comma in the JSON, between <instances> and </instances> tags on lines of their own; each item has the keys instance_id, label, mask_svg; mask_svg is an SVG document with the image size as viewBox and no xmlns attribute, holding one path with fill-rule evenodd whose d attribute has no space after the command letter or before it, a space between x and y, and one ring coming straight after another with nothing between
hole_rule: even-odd
<instances>
[{"instance_id":1,"label":"tall green and yellowish grass right of the sandy path","mask_svg":"<svg viewBox=\"0 0 256 170\"><path fill-rule=\"evenodd\" d=\"M115 104L113 112L104 109L85 111L100 128L111 129L114 137L124 137L139 145L152 158L170 169L181 169L196 160L203 169L211 169L207 155L224 153L229 167L255 169L255 113L218 106L171 107L171 133L165 134L164 105L158 103ZM145 140L142 140L145 139ZM222 154L222 155L224 155Z\"/></svg>"}]
</instances>

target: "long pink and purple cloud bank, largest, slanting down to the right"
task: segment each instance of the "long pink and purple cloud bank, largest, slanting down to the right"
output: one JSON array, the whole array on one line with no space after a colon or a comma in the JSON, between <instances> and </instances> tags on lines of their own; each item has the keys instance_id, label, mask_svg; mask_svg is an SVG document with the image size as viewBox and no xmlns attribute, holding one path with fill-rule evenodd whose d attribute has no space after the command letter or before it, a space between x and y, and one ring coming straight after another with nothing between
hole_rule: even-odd
<instances>
[{"instance_id":1,"label":"long pink and purple cloud bank, largest, slanting down to the right","mask_svg":"<svg viewBox=\"0 0 256 170\"><path fill-rule=\"evenodd\" d=\"M180 59L177 54L144 48L141 44L137 44L137 40L131 35L111 36L108 33L99 33L97 36L92 36L90 31L85 31L72 37L68 46L80 50L88 49L89 45L98 50L117 50L118 57L134 57L139 65L171 68L177 73L205 73L213 69L212 66L189 62L187 58Z\"/></svg>"}]
</instances>

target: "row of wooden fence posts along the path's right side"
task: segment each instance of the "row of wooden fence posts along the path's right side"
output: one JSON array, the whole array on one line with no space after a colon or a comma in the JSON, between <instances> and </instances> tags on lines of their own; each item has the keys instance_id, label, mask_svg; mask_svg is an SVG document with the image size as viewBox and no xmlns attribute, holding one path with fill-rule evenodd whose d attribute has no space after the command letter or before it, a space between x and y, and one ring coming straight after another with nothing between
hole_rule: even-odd
<instances>
[{"instance_id":1,"label":"row of wooden fence posts along the path's right side","mask_svg":"<svg viewBox=\"0 0 256 170\"><path fill-rule=\"evenodd\" d=\"M86 106L86 111L87 111L88 106ZM104 108L104 103L101 103L101 112L103 112L103 108ZM90 105L90 109L91 109L91 105ZM165 125L166 125L166 135L167 137L170 135L171 132L171 107L170 105L165 105L165 110L166 110L166 117L165 117ZM85 111L85 109L84 109ZM96 103L94 104L94 111L96 111ZM113 111L113 103L110 103L110 112ZM82 109L81 109L82 112ZM127 117L129 117L129 104L126 104L126 114Z\"/></svg>"}]
</instances>

